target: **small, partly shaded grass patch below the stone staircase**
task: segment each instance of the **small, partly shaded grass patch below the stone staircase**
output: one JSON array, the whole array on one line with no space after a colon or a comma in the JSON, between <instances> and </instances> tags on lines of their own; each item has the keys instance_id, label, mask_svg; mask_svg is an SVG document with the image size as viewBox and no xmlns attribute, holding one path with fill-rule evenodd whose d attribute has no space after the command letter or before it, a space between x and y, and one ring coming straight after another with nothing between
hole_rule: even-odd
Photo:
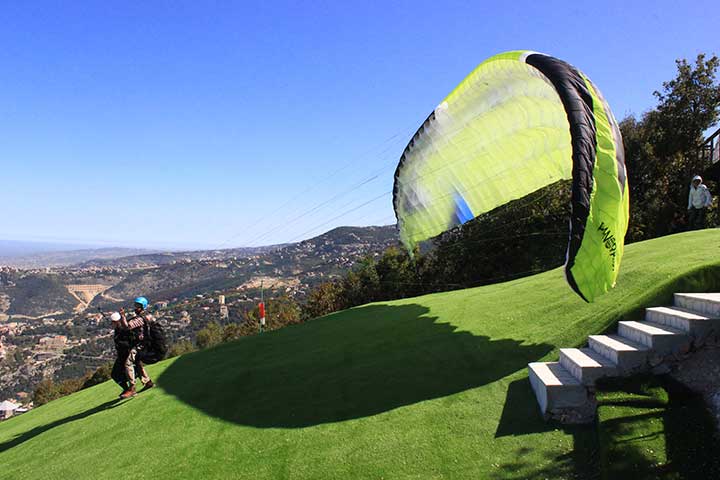
<instances>
[{"instance_id":1,"label":"small, partly shaded grass patch below the stone staircase","mask_svg":"<svg viewBox=\"0 0 720 480\"><path fill-rule=\"evenodd\" d=\"M601 478L720 478L720 438L701 395L640 375L604 379L597 398Z\"/></svg>"}]
</instances>

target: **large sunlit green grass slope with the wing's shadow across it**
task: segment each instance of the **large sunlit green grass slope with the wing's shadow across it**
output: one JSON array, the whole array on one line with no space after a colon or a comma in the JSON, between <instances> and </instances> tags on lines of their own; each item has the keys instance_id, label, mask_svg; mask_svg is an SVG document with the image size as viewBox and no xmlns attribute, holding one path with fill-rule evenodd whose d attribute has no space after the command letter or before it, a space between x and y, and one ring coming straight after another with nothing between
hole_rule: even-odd
<instances>
[{"instance_id":1,"label":"large sunlit green grass slope with the wing's shadow across it","mask_svg":"<svg viewBox=\"0 0 720 480\"><path fill-rule=\"evenodd\" d=\"M673 291L720 288L720 233L627 248L594 304L560 269L371 304L185 355L0 424L0 477L578 478L595 427L544 423L526 364Z\"/></svg>"}]
</instances>

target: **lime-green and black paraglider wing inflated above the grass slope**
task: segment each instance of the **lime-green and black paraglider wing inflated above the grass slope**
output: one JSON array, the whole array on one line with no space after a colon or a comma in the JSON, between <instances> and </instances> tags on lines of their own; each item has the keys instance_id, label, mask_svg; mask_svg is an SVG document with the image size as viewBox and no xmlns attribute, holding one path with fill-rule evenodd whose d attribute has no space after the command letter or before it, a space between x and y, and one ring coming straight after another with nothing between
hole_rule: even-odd
<instances>
[{"instance_id":1,"label":"lime-green and black paraglider wing inflated above the grass slope","mask_svg":"<svg viewBox=\"0 0 720 480\"><path fill-rule=\"evenodd\" d=\"M565 272L586 301L615 285L628 187L617 122L562 60L529 51L480 64L415 133L393 203L408 249L512 200L572 179Z\"/></svg>"}]
</instances>

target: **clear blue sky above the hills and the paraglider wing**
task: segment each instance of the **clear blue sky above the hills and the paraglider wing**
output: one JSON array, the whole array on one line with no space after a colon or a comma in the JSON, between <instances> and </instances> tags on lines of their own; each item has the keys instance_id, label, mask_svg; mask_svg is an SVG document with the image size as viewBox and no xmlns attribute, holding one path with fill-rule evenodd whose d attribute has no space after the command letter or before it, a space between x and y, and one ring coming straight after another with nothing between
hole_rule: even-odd
<instances>
[{"instance_id":1,"label":"clear blue sky above the hills and the paraglider wing","mask_svg":"<svg viewBox=\"0 0 720 480\"><path fill-rule=\"evenodd\" d=\"M621 118L676 58L720 53L720 8L4 2L0 239L217 247L392 223L410 135L513 49L576 65Z\"/></svg>"}]
</instances>

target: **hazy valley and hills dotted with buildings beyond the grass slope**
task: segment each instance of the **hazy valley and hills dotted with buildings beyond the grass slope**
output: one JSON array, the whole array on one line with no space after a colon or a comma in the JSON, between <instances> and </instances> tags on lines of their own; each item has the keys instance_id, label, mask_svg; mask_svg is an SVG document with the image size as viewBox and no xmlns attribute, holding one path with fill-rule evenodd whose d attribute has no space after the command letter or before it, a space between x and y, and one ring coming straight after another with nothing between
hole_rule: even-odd
<instances>
[{"instance_id":1,"label":"hazy valley and hills dotted with buildings beyond the grass slope","mask_svg":"<svg viewBox=\"0 0 720 480\"><path fill-rule=\"evenodd\" d=\"M150 254L81 265L0 266L0 400L31 407L43 378L82 376L112 360L107 312L143 293L172 342L210 322L242 324L267 297L302 302L310 288L397 242L394 227L340 228L238 257ZM208 256L212 258L207 258Z\"/></svg>"}]
</instances>

